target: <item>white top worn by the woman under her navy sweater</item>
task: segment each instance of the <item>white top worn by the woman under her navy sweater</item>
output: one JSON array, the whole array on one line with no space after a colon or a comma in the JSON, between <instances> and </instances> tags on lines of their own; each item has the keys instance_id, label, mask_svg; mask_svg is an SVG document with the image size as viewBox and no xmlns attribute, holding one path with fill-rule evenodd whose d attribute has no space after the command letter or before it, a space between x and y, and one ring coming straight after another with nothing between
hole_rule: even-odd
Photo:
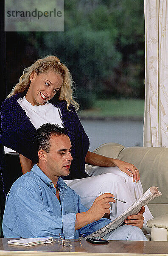
<instances>
[{"instance_id":1,"label":"white top worn by the woman under her navy sweater","mask_svg":"<svg viewBox=\"0 0 168 256\"><path fill-rule=\"evenodd\" d=\"M22 109L26 112L26 115L30 118L31 123L36 130L45 123L56 124L64 127L61 120L61 112L59 108L54 107L50 102L46 102L45 105L33 106L25 98L17 100ZM18 154L11 148L4 147L5 154Z\"/></svg>"}]
</instances>

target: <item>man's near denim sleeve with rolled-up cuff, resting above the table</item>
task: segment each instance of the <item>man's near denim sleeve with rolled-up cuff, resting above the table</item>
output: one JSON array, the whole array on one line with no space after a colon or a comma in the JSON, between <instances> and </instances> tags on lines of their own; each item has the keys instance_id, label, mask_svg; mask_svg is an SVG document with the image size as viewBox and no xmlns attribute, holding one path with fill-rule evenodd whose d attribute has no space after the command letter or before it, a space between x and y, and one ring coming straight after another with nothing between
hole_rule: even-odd
<instances>
[{"instance_id":1,"label":"man's near denim sleeve with rolled-up cuff, resting above the table","mask_svg":"<svg viewBox=\"0 0 168 256\"><path fill-rule=\"evenodd\" d=\"M27 227L29 237L59 238L59 234L62 234L66 239L74 238L76 214L61 215L60 208L58 215L55 215L50 207L43 204L40 190L19 188L14 193L13 200L18 215L17 221Z\"/></svg>"}]
</instances>

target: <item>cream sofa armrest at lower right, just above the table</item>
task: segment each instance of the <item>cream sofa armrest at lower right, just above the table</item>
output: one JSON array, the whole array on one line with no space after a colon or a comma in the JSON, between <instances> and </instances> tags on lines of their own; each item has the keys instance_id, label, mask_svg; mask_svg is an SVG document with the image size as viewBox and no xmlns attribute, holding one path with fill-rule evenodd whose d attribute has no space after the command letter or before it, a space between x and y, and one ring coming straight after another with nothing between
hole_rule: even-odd
<instances>
[{"instance_id":1,"label":"cream sofa armrest at lower right, just above the table","mask_svg":"<svg viewBox=\"0 0 168 256\"><path fill-rule=\"evenodd\" d=\"M147 226L151 227L151 241L168 241L168 214L149 220Z\"/></svg>"}]
</instances>

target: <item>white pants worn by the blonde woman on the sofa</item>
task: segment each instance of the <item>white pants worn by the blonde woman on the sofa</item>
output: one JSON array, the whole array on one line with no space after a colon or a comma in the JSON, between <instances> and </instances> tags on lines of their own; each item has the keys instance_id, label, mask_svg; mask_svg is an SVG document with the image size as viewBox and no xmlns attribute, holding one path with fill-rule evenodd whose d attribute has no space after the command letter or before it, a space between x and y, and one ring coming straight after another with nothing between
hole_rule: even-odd
<instances>
[{"instance_id":1,"label":"white pants worn by the blonde woman on the sofa","mask_svg":"<svg viewBox=\"0 0 168 256\"><path fill-rule=\"evenodd\" d=\"M88 209L92 206L95 198L100 195L100 192L110 192L115 195L115 198L126 201L126 204L117 200L112 203L112 209L110 208L111 220L117 218L143 194L141 182L133 182L132 177L120 171L118 167L92 167L86 165L86 172L91 177L64 181L80 195L81 203ZM150 233L151 229L146 226L146 222L154 217L147 206L143 217L145 218L143 228Z\"/></svg>"}]
</instances>

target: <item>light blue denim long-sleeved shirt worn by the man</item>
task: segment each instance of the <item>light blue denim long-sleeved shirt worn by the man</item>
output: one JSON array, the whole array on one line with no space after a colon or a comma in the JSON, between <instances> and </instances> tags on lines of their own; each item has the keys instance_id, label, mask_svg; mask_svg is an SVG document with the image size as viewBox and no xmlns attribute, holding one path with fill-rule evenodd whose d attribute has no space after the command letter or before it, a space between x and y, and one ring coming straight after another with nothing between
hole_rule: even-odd
<instances>
[{"instance_id":1,"label":"light blue denim long-sleeved shirt worn by the man","mask_svg":"<svg viewBox=\"0 0 168 256\"><path fill-rule=\"evenodd\" d=\"M49 237L77 239L98 230L110 222L106 218L75 231L76 213L86 212L79 195L59 177L60 202L56 189L44 172L34 165L12 185L6 198L3 234L10 238Z\"/></svg>"}]
</instances>

